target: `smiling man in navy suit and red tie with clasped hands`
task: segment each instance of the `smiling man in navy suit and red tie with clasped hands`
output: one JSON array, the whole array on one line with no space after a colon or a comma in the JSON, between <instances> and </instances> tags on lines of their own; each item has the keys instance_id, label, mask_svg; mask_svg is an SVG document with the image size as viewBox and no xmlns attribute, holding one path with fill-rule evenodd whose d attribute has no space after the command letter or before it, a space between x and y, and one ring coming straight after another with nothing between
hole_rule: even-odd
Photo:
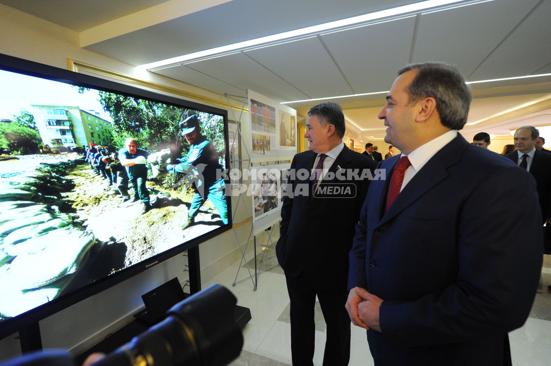
<instances>
[{"instance_id":1,"label":"smiling man in navy suit and red tie with clasped hands","mask_svg":"<svg viewBox=\"0 0 551 366\"><path fill-rule=\"evenodd\" d=\"M361 210L350 319L369 329L375 365L511 364L507 332L530 313L542 264L536 182L457 133L471 93L456 67L398 75L379 118L402 154L381 162L387 179Z\"/></svg>"}]
</instances>

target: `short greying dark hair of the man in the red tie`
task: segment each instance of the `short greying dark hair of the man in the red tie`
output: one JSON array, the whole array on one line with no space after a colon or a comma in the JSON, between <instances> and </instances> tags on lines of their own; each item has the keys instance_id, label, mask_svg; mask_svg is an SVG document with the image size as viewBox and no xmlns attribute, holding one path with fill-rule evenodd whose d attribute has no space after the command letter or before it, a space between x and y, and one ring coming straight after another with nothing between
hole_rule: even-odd
<instances>
[{"instance_id":1,"label":"short greying dark hair of the man in the red tie","mask_svg":"<svg viewBox=\"0 0 551 366\"><path fill-rule=\"evenodd\" d=\"M418 70L409 85L409 104L433 97L442 125L462 129L467 122L472 96L459 69L444 62L414 63L399 70L398 76L409 70Z\"/></svg>"}]
</instances>

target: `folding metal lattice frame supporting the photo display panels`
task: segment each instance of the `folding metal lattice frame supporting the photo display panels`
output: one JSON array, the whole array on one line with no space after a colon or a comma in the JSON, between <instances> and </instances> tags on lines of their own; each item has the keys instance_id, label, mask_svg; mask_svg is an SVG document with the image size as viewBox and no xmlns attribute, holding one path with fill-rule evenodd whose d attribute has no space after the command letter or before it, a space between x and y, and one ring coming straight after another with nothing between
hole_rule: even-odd
<instances>
[{"instance_id":1,"label":"folding metal lattice frame supporting the photo display panels","mask_svg":"<svg viewBox=\"0 0 551 366\"><path fill-rule=\"evenodd\" d=\"M231 95L231 94L227 94L227 93L224 93L224 96L226 97L226 100L228 101L228 105L230 107L231 115L232 115L232 117L233 117L233 119L236 123L236 126L237 126L237 130L236 130L237 135L235 136L233 141L231 141L229 150L233 151L234 145L237 141L237 144L239 144L239 143L243 144L243 146L245 148L245 153L246 153L246 156L247 156L247 159L230 159L230 167L229 168L230 168L230 171L231 171L231 170L233 170L233 168L235 166L235 163L246 162L247 163L246 169L248 170L249 168L252 167L252 162L251 162L251 155L249 153L249 149L247 149L248 140L246 140L245 136L242 133L241 118L242 118L243 112L245 110L245 105L246 105L247 101L249 100L249 90L246 90L245 96ZM239 98L239 99L243 100L243 104L242 104L242 107L241 107L239 118L236 118L236 116L235 116L234 109L232 108L231 102L229 100L230 96L231 97L236 97L236 98ZM249 113L250 113L250 111L249 111ZM237 136L239 136L239 138L237 138ZM249 136L247 136L247 137L249 137ZM241 158L241 156L240 156L240 158ZM245 183L239 183L239 181L232 182L231 181L231 176L230 176L230 183L232 184L232 187L234 186L234 184L236 184L237 187L240 187L240 184L245 184ZM241 204L241 202L244 205L245 210L247 211L247 218L245 220L235 221L235 215L237 213L237 209L238 209L239 205ZM272 258L275 255L274 254L274 255L269 256L268 258L264 258L264 254L266 254L266 250L263 250L261 261L260 261L260 267L257 267L257 252L256 252L256 237L257 237L257 234L255 234L255 232L254 232L255 228L254 228L254 223L253 223L253 220L254 220L254 207L252 207L253 212L251 214L251 211L249 211L249 204L250 204L250 202L245 200L245 195L241 192L241 189L240 189L239 190L239 196L237 198L237 204L235 206L235 210L233 211L234 214L233 214L233 217L232 217L232 222L234 223L233 230L234 230L234 234L235 234L235 239L237 241L237 244L239 244L239 249L241 250L241 261L239 263L239 267L237 267L237 273L235 274L235 280L234 280L232 286L235 287L235 285L237 285L237 283L247 281L247 280L250 279L251 282L252 282L252 285L253 285L253 291L256 291L256 289L258 287L257 286L258 285L258 275L260 275L263 271L266 271L266 270L268 270L268 269L270 269L274 266L277 266L277 265L268 267L267 269L262 269L263 262L270 259L270 258ZM237 232L235 231L235 225L239 224L239 223L244 223L244 222L247 222L247 221L251 222L251 230L249 231L249 237L247 238L247 241L241 242L239 240L239 236L237 236ZM272 249L274 249L274 253L275 253L275 250L276 250L276 244L272 240L272 233L273 233L273 229L274 229L275 225L277 225L277 223L279 221L280 221L280 219L270 223L270 225L268 227L263 229L263 230L268 232L268 242L267 242L267 244L262 244L261 247L272 248ZM247 249L249 248L249 243L251 242L251 236L252 236L252 239L253 239L252 241L253 241L254 260L255 260L255 269L254 269L253 272L251 271L251 267L249 267L249 263L247 263L247 259L246 259L246 253L247 253ZM239 276L241 266L244 262L245 262L245 266L247 268L247 271L249 272L249 276L243 278L242 280L237 281L237 276Z\"/></svg>"}]
</instances>

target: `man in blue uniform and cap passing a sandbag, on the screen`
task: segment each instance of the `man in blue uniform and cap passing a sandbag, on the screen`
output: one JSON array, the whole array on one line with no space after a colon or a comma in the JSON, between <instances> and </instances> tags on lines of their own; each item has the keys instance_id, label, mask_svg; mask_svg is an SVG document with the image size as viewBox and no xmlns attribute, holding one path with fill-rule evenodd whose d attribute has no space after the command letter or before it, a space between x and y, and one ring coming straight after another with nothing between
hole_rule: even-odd
<instances>
[{"instance_id":1,"label":"man in blue uniform and cap passing a sandbag, on the screen","mask_svg":"<svg viewBox=\"0 0 551 366\"><path fill-rule=\"evenodd\" d=\"M171 173L193 173L197 176L193 182L193 199L187 220L182 225L182 230L195 223L195 217L199 208L209 199L216 207L222 222L228 223L228 204L226 203L225 182L218 172L222 166L218 162L218 155L213 144L201 134L197 114L186 117L180 122L182 136L190 143L190 151L183 159L177 159L180 164L167 165L166 170Z\"/></svg>"}]
</instances>

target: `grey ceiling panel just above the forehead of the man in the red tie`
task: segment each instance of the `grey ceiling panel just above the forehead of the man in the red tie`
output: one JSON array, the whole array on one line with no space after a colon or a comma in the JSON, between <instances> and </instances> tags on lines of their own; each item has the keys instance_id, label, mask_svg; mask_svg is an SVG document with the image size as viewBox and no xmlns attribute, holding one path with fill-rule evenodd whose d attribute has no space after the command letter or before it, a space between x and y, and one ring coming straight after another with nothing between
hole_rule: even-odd
<instances>
[{"instance_id":1,"label":"grey ceiling panel just above the forehead of the man in the red tie","mask_svg":"<svg viewBox=\"0 0 551 366\"><path fill-rule=\"evenodd\" d=\"M409 60L415 18L321 36L354 91L386 91Z\"/></svg>"}]
</instances>

